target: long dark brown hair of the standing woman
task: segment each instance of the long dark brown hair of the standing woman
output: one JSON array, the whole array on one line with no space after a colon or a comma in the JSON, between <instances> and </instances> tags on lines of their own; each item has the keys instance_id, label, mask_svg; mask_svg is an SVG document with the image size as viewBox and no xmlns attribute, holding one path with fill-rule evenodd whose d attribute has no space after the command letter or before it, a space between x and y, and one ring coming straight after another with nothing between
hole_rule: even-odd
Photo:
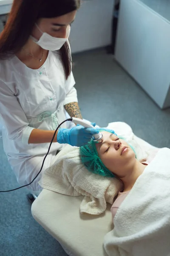
<instances>
[{"instance_id":1,"label":"long dark brown hair of the standing woman","mask_svg":"<svg viewBox=\"0 0 170 256\"><path fill-rule=\"evenodd\" d=\"M16 54L28 41L40 18L53 18L77 10L80 0L14 0L3 32L0 34L0 59ZM66 42L60 49L65 77L71 73L71 53Z\"/></svg>"}]
</instances>

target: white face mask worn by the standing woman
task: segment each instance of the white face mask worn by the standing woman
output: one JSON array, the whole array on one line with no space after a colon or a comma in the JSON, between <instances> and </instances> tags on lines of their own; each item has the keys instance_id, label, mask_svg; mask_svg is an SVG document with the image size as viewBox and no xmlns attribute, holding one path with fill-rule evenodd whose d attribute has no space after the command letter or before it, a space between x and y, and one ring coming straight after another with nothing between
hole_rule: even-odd
<instances>
[{"instance_id":1,"label":"white face mask worn by the standing woman","mask_svg":"<svg viewBox=\"0 0 170 256\"><path fill-rule=\"evenodd\" d=\"M42 49L48 50L48 51L56 51L61 49L61 47L65 44L65 42L68 40L68 37L70 35L70 26L67 28L67 38L55 38L46 32L42 32L41 29L38 27L36 24L37 28L40 30L42 33L42 36L40 39L37 41L34 37L31 36L31 39Z\"/></svg>"}]
</instances>

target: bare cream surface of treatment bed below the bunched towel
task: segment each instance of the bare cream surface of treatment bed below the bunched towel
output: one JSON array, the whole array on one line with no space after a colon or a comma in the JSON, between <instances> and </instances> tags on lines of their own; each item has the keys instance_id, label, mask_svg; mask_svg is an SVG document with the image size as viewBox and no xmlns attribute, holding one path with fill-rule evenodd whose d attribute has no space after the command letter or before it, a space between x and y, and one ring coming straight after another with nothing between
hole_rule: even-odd
<instances>
[{"instance_id":1,"label":"bare cream surface of treatment bed below the bunched towel","mask_svg":"<svg viewBox=\"0 0 170 256\"><path fill-rule=\"evenodd\" d=\"M82 199L43 189L32 204L32 215L74 256L106 256L103 238L113 228L111 205L99 216L80 215Z\"/></svg>"}]
</instances>

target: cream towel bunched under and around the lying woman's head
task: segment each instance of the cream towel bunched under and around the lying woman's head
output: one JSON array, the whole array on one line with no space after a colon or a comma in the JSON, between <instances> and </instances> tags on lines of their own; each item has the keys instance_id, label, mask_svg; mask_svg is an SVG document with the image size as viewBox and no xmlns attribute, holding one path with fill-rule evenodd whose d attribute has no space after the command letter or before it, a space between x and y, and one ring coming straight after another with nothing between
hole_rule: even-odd
<instances>
[{"instance_id":1,"label":"cream towel bunched under and around the lying woman's head","mask_svg":"<svg viewBox=\"0 0 170 256\"><path fill-rule=\"evenodd\" d=\"M129 125L124 122L114 122L108 128L125 137L136 150L137 158L146 158L154 147L133 134ZM42 188L64 195L84 195L80 205L81 213L99 215L106 209L106 203L113 204L114 197L120 191L122 184L116 178L102 177L89 172L81 163L79 148L66 145L57 154L55 162L42 175Z\"/></svg>"}]
</instances>

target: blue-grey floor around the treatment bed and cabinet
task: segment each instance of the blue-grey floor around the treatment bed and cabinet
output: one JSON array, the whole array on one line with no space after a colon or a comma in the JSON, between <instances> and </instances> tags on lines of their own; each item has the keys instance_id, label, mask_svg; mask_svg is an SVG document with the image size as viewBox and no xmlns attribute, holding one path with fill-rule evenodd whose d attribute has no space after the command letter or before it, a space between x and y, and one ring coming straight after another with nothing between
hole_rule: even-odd
<instances>
[{"instance_id":1,"label":"blue-grey floor around the treatment bed and cabinet","mask_svg":"<svg viewBox=\"0 0 170 256\"><path fill-rule=\"evenodd\" d=\"M73 57L79 105L84 118L106 126L127 122L136 135L170 147L170 109L161 111L105 50ZM0 189L17 186L0 140ZM0 194L1 256L66 256L31 216L26 189Z\"/></svg>"}]
</instances>

